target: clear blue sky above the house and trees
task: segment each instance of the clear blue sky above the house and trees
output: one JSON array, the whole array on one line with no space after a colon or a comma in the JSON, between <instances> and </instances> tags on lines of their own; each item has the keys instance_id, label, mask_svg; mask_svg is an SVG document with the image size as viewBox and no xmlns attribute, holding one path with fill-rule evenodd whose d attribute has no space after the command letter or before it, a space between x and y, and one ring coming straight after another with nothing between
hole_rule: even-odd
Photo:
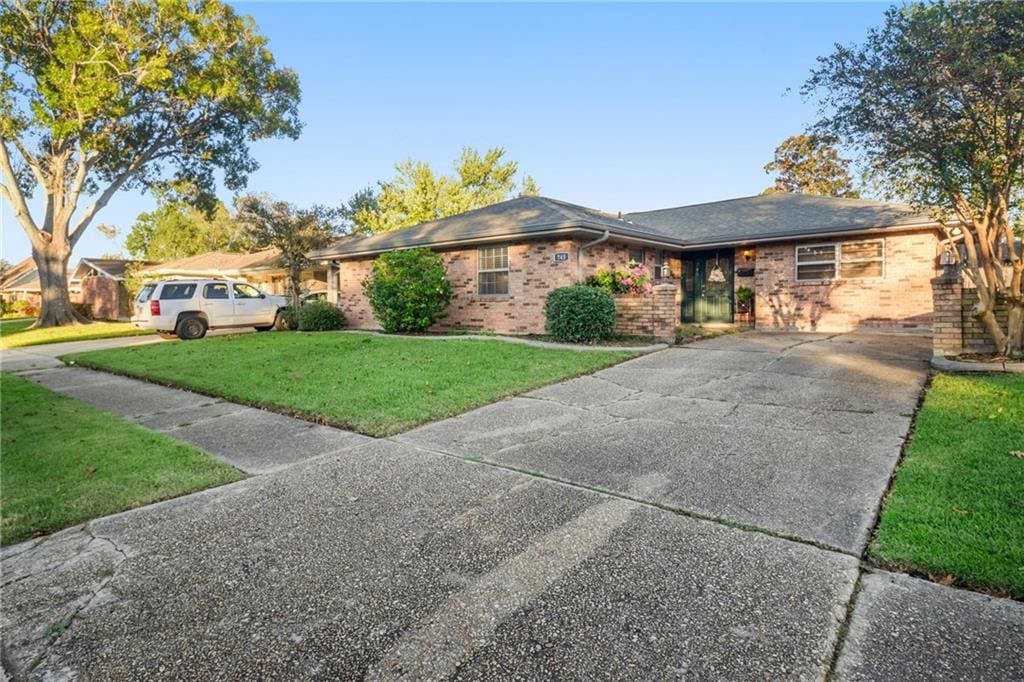
<instances>
[{"instance_id":1,"label":"clear blue sky above the house and trees","mask_svg":"<svg viewBox=\"0 0 1024 682\"><path fill-rule=\"evenodd\" d=\"M501 145L542 194L607 211L761 191L775 145L814 119L798 91L815 58L887 7L237 6L299 73L305 122L297 141L254 146L250 189L338 204L402 159L447 172L463 145ZM122 193L97 222L124 233L152 207ZM6 205L2 221L3 257L29 255ZM90 228L75 257L119 249Z\"/></svg>"}]
</instances>

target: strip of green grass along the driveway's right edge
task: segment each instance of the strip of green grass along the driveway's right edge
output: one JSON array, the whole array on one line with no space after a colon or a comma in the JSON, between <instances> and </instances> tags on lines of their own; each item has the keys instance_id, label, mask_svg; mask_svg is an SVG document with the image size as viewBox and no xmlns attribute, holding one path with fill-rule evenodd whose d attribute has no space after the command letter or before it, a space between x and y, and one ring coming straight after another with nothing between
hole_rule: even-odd
<instances>
[{"instance_id":1,"label":"strip of green grass along the driveway's right edge","mask_svg":"<svg viewBox=\"0 0 1024 682\"><path fill-rule=\"evenodd\" d=\"M1024 376L935 377L869 556L1024 597Z\"/></svg>"}]
</instances>

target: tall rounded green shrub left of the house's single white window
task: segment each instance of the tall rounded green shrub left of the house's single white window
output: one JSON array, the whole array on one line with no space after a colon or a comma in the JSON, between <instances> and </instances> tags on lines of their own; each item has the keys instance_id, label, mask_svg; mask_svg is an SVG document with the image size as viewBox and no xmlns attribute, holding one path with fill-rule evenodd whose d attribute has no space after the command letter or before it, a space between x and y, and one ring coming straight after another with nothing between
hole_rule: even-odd
<instances>
[{"instance_id":1,"label":"tall rounded green shrub left of the house's single white window","mask_svg":"<svg viewBox=\"0 0 1024 682\"><path fill-rule=\"evenodd\" d=\"M444 260L430 249L381 254L362 289L389 333L422 332L444 315L452 301Z\"/></svg>"}]
</instances>

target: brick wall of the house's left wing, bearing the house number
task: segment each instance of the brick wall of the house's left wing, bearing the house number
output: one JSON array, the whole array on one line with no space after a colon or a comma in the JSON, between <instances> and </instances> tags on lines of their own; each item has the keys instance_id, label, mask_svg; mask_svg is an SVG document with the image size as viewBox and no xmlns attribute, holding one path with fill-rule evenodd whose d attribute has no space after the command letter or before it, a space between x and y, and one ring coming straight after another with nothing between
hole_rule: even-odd
<instances>
[{"instance_id":1,"label":"brick wall of the house's left wing, bearing the house number","mask_svg":"<svg viewBox=\"0 0 1024 682\"><path fill-rule=\"evenodd\" d=\"M579 273L577 249L585 243L586 240L558 240L509 244L509 293L501 296L481 296L477 293L476 248L441 252L454 295L447 316L431 329L543 334L544 300L552 289L575 284ZM568 260L556 261L556 253L567 253ZM584 252L584 278L598 269L625 267L629 264L629 246L615 242L591 247ZM653 251L647 250L648 265L653 262L652 258ZM671 267L678 276L678 257L671 259ZM380 328L361 286L372 268L372 258L344 260L339 264L338 304L344 310L349 326L354 329ZM671 291L676 301L677 289L678 286L674 283ZM662 298L665 298L665 294ZM664 303L659 306L664 306ZM674 307L676 322L672 325L673 329L679 317L679 306ZM643 325L651 329L656 327L652 318Z\"/></svg>"}]
</instances>

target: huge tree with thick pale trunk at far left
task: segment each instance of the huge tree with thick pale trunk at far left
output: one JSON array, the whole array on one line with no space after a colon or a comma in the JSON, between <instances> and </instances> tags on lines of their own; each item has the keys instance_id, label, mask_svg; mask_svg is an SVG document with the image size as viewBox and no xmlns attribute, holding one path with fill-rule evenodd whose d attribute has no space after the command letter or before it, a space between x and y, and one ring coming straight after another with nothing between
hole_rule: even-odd
<instances>
[{"instance_id":1,"label":"huge tree with thick pale trunk at far left","mask_svg":"<svg viewBox=\"0 0 1024 682\"><path fill-rule=\"evenodd\" d=\"M218 170L241 188L250 142L301 127L298 77L220 0L0 0L0 196L32 243L40 327L82 322L68 260L118 190L211 196Z\"/></svg>"}]
</instances>

